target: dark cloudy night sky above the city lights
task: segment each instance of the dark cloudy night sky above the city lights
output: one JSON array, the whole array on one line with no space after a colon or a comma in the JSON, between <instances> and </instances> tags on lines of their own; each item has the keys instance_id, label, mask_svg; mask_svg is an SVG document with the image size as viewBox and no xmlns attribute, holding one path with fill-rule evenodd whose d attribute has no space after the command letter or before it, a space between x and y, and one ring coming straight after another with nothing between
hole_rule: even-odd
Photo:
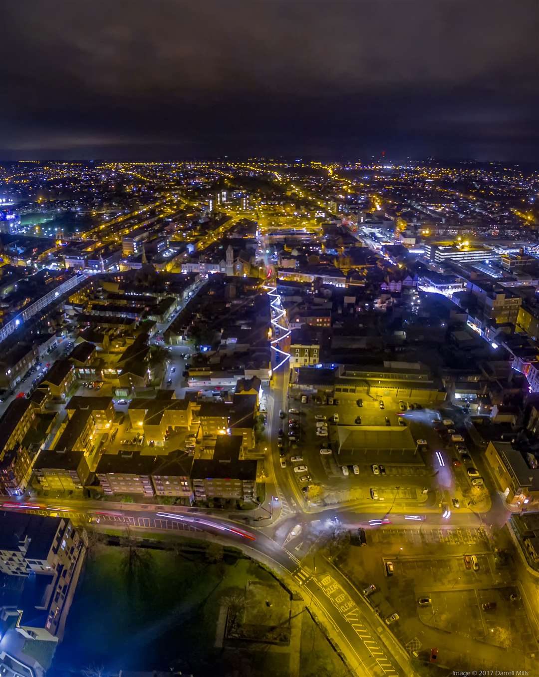
<instances>
[{"instance_id":1,"label":"dark cloudy night sky above the city lights","mask_svg":"<svg viewBox=\"0 0 539 677\"><path fill-rule=\"evenodd\" d=\"M539 159L537 0L0 0L0 159Z\"/></svg>"}]
</instances>

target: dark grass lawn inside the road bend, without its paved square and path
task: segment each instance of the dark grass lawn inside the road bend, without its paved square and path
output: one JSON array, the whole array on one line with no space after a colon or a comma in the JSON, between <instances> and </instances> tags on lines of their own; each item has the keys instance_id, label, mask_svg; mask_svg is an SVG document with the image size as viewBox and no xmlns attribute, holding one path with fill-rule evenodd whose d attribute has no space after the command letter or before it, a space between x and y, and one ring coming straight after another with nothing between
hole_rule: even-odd
<instances>
[{"instance_id":1,"label":"dark grass lawn inside the road bend, without its paved square and path","mask_svg":"<svg viewBox=\"0 0 539 677\"><path fill-rule=\"evenodd\" d=\"M222 550L215 557L181 550L96 546L85 565L68 617L64 641L49 674L64 676L86 668L181 670L197 677L216 674L287 677L287 650L267 651L249 643L215 647L221 598L243 592L246 582L275 584L270 573L248 559ZM217 551L219 546L217 546ZM217 559L217 561L212 561ZM303 613L298 677L326 674L339 659L324 634ZM334 662L335 661L335 662Z\"/></svg>"}]
</instances>

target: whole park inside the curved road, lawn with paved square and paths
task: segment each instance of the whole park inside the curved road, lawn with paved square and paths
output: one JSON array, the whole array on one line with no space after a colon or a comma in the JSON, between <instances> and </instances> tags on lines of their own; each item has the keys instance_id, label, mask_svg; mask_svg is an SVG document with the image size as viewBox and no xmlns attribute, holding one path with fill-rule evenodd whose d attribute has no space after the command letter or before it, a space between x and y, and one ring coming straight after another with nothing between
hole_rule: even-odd
<instances>
[{"instance_id":1,"label":"whole park inside the curved road, lawn with paved square and paths","mask_svg":"<svg viewBox=\"0 0 539 677\"><path fill-rule=\"evenodd\" d=\"M52 674L347 674L301 600L257 563L215 543L156 545L93 546Z\"/></svg>"}]
</instances>

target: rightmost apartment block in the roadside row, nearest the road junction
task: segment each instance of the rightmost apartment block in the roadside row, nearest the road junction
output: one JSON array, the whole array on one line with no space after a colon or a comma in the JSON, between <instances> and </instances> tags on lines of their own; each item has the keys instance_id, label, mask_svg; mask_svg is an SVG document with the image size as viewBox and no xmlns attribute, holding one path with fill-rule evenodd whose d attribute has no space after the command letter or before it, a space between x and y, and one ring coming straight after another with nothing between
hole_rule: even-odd
<instances>
[{"instance_id":1,"label":"rightmost apartment block in the roadside row, nearest the road junction","mask_svg":"<svg viewBox=\"0 0 539 677\"><path fill-rule=\"evenodd\" d=\"M219 435L213 458L193 461L191 480L196 499L255 500L257 461L240 460L241 446L241 437Z\"/></svg>"}]
</instances>

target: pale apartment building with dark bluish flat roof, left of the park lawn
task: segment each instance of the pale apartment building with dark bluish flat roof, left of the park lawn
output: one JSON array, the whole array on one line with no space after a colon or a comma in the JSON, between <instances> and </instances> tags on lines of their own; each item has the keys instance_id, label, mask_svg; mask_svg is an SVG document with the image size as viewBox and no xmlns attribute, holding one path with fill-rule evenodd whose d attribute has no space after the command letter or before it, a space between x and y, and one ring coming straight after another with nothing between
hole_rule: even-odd
<instances>
[{"instance_id":1,"label":"pale apartment building with dark bluish flat roof, left of the park lawn","mask_svg":"<svg viewBox=\"0 0 539 677\"><path fill-rule=\"evenodd\" d=\"M0 573L26 580L3 613L28 640L58 641L70 607L85 547L64 517L0 510Z\"/></svg>"}]
</instances>

